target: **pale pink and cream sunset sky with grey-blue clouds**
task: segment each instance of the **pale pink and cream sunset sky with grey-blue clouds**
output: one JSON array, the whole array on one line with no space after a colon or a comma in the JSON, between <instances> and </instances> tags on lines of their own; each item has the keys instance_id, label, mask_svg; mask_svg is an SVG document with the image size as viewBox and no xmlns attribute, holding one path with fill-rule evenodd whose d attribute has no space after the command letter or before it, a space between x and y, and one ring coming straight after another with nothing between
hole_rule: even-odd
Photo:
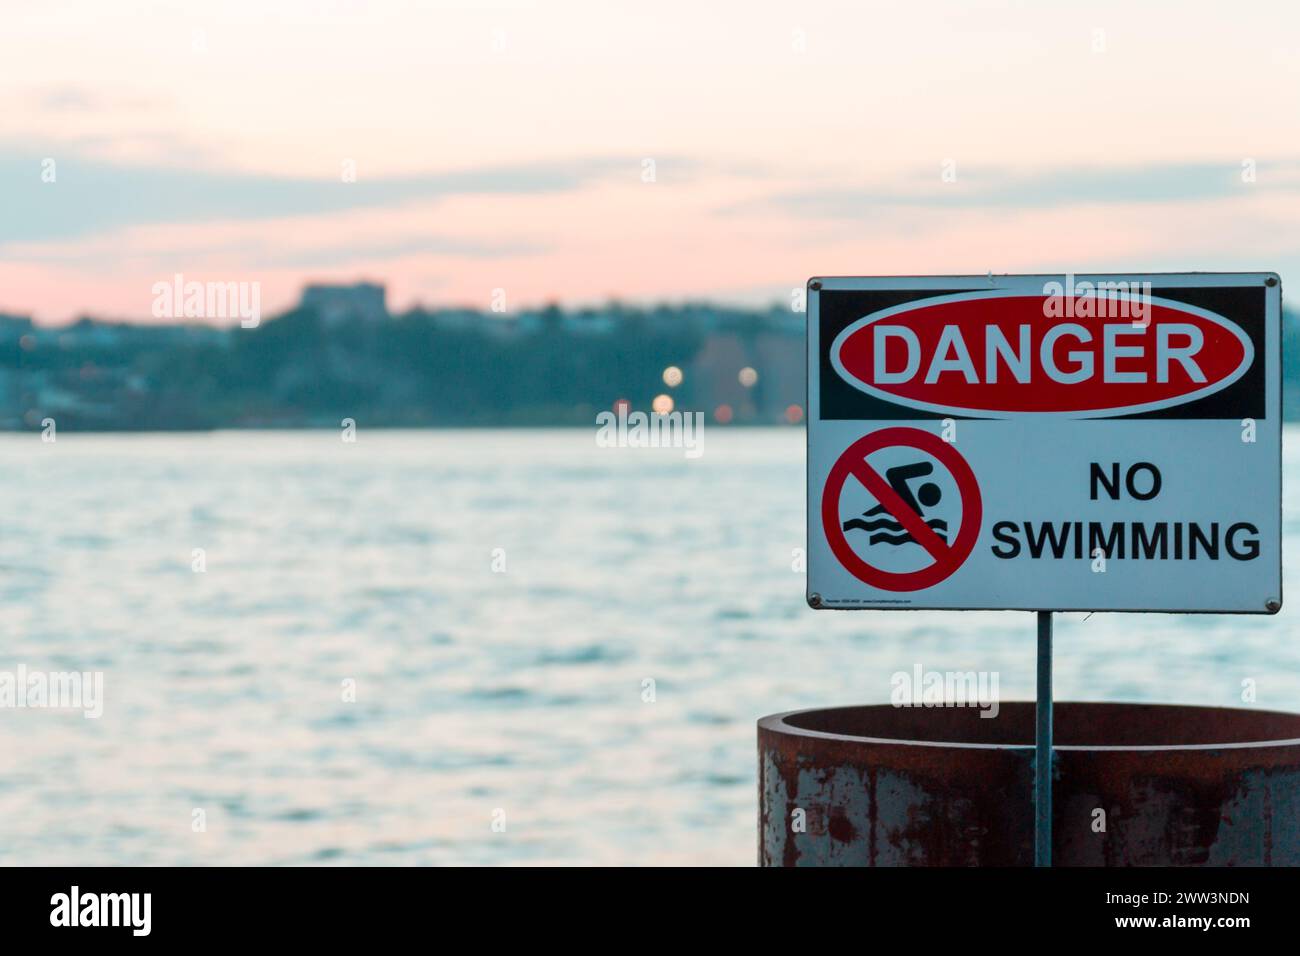
<instances>
[{"instance_id":1,"label":"pale pink and cream sunset sky with grey-blue clouds","mask_svg":"<svg viewBox=\"0 0 1300 956\"><path fill-rule=\"evenodd\" d=\"M5 0L0 312L1300 281L1300 4ZM237 323L238 319L218 324Z\"/></svg>"}]
</instances>

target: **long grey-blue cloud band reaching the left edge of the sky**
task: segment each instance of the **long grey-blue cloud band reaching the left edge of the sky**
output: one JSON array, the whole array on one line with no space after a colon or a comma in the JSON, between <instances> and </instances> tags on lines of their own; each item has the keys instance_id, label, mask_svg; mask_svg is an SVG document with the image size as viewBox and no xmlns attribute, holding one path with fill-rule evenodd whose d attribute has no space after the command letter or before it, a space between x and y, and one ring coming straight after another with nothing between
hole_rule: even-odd
<instances>
[{"instance_id":1,"label":"long grey-blue cloud band reaching the left edge of the sky","mask_svg":"<svg viewBox=\"0 0 1300 956\"><path fill-rule=\"evenodd\" d=\"M56 181L43 182L44 157L0 144L0 247L136 225L329 215L465 194L558 193L640 169L640 160L630 157L590 157L398 177L367 177L361 170L356 182L342 182L118 165L79 155L51 159Z\"/></svg>"}]
</instances>

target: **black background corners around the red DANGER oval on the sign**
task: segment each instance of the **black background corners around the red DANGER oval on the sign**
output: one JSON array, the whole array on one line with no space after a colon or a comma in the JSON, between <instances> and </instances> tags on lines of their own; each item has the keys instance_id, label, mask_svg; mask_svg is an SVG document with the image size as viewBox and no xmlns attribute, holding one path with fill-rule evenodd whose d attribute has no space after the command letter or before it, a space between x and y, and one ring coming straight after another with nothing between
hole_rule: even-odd
<instances>
[{"instance_id":1,"label":"black background corners around the red DANGER oval on the sign","mask_svg":"<svg viewBox=\"0 0 1300 956\"><path fill-rule=\"evenodd\" d=\"M988 291L988 287L967 289L926 289L926 290L871 290L841 291L822 290L819 293L820 342L818 347L820 363L820 419L888 421L896 419L944 419L944 418L983 418L957 412L927 411L887 398L871 395L845 381L831 360L831 347L836 337L849 325L875 312L894 306L922 299L954 295L957 293ZM1109 416L1122 419L1257 419L1268 416L1265 395L1265 289L1260 285L1219 286L1219 287L1157 287L1150 289L1152 298L1167 299L1197 308L1204 308L1234 323L1254 346L1254 358L1244 375L1235 382L1204 398L1188 401L1169 408L1160 408L1132 415ZM1079 418L1089 418L1079 415Z\"/></svg>"}]
</instances>

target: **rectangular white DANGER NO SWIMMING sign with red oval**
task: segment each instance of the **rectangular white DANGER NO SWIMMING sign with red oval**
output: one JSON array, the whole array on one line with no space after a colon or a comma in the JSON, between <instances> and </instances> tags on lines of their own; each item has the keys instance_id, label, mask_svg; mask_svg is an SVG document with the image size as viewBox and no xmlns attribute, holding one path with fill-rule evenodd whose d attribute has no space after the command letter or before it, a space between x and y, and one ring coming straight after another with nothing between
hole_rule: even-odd
<instances>
[{"instance_id":1,"label":"rectangular white DANGER NO SWIMMING sign with red oval","mask_svg":"<svg viewBox=\"0 0 1300 956\"><path fill-rule=\"evenodd\" d=\"M1273 273L809 287L814 607L1275 613Z\"/></svg>"}]
</instances>

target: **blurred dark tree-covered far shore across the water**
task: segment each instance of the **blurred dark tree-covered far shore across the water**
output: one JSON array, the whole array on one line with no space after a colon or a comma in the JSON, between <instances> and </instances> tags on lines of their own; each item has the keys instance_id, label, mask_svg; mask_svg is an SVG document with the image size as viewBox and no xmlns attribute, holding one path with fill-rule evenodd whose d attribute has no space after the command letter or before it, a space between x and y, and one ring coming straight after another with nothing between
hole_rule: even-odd
<instances>
[{"instance_id":1,"label":"blurred dark tree-covered far shore across the water","mask_svg":"<svg viewBox=\"0 0 1300 956\"><path fill-rule=\"evenodd\" d=\"M512 315L324 297L257 328L0 315L0 429L590 425L625 401L720 424L798 424L803 315L707 303ZM1284 408L1300 419L1300 317L1284 320ZM666 399L659 398L660 407Z\"/></svg>"}]
</instances>

